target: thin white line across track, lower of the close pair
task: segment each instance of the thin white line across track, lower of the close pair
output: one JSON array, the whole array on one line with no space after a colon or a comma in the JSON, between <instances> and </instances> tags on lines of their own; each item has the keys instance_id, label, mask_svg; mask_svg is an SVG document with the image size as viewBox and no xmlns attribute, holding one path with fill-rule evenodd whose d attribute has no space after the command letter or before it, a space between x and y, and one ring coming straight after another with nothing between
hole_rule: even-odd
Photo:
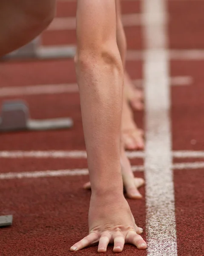
<instances>
[{"instance_id":1,"label":"thin white line across track, lower of the close pair","mask_svg":"<svg viewBox=\"0 0 204 256\"><path fill-rule=\"evenodd\" d=\"M175 163L172 165L174 170L203 169L204 162L195 163ZM144 166L132 166L133 172L144 172ZM0 180L22 179L22 178L40 178L40 177L60 177L60 176L80 176L89 175L88 169L66 169L66 170L48 170L35 172L4 172L0 173Z\"/></svg>"}]
</instances>

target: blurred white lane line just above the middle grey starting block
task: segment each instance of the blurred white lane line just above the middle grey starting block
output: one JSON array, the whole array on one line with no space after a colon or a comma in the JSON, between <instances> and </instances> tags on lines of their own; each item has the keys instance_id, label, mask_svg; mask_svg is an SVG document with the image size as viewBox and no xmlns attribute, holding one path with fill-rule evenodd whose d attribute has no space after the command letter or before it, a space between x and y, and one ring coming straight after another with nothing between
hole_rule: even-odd
<instances>
[{"instance_id":1,"label":"blurred white lane line just above the middle grey starting block","mask_svg":"<svg viewBox=\"0 0 204 256\"><path fill-rule=\"evenodd\" d=\"M143 87L142 79L133 80L135 86ZM174 76L170 79L172 86L186 86L193 83L191 76ZM29 86L0 87L0 98L8 96L77 93L77 84L36 84Z\"/></svg>"}]
</instances>

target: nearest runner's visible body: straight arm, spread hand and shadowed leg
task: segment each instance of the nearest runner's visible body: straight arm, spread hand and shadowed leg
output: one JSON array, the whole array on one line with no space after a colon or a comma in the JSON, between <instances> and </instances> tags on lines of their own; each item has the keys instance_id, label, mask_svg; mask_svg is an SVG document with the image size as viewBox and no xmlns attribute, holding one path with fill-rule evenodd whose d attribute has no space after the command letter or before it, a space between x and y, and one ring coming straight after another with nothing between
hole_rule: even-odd
<instances>
[{"instance_id":1,"label":"nearest runner's visible body: straight arm, spread hand and shadowed leg","mask_svg":"<svg viewBox=\"0 0 204 256\"><path fill-rule=\"evenodd\" d=\"M40 26L41 20L52 20L53 0L38 0L39 4L23 0L20 6L18 2L11 0L8 6L6 0L0 3L0 55L32 40L48 22L42 21ZM11 21L15 22L13 29ZM89 235L71 250L95 242L99 242L98 252L105 252L109 242L114 243L114 252L121 252L124 243L145 249L147 244L139 235L142 230L136 226L123 194L120 140L124 74L116 42L115 0L78 0L77 38L75 62L92 196Z\"/></svg>"}]
</instances>

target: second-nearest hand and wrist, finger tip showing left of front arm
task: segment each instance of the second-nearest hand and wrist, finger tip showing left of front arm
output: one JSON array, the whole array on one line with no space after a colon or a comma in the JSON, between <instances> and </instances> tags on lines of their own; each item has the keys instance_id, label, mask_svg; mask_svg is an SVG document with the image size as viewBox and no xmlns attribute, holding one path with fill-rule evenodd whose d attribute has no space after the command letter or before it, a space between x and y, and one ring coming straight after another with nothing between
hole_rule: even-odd
<instances>
[{"instance_id":1,"label":"second-nearest hand and wrist, finger tip showing left of front arm","mask_svg":"<svg viewBox=\"0 0 204 256\"><path fill-rule=\"evenodd\" d=\"M142 195L138 191L138 188L144 185L144 179L134 177L129 159L126 156L124 149L121 151L121 172L126 195L128 198L141 199ZM91 183L85 183L83 188L91 189Z\"/></svg>"}]
</instances>

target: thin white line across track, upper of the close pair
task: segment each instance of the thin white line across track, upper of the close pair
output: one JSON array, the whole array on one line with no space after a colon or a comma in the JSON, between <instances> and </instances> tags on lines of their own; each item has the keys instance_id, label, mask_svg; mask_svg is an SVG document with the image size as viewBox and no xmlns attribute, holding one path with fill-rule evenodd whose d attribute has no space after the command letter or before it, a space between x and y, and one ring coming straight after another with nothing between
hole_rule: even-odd
<instances>
[{"instance_id":1,"label":"thin white line across track, upper of the close pair","mask_svg":"<svg viewBox=\"0 0 204 256\"><path fill-rule=\"evenodd\" d=\"M143 151L126 151L129 159L143 159ZM204 158L204 151L178 150L172 152L174 158ZM50 150L50 151L0 151L0 158L86 158L83 150Z\"/></svg>"}]
</instances>

